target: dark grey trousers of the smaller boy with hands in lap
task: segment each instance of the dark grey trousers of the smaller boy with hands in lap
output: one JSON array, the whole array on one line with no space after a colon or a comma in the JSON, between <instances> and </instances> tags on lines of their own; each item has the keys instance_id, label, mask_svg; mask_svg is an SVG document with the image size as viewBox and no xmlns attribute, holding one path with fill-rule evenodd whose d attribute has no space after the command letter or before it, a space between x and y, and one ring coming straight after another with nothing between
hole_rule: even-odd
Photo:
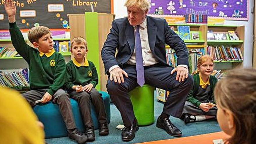
<instances>
[{"instance_id":1,"label":"dark grey trousers of the smaller boy with hands in lap","mask_svg":"<svg viewBox=\"0 0 256 144\"><path fill-rule=\"evenodd\" d=\"M93 120L91 118L90 102L93 104L96 114L98 115L99 124L107 123L105 106L103 104L103 99L101 93L99 93L95 88L92 88L90 92L76 92L73 90L69 93L70 97L77 101L82 115L84 125L87 129L94 129Z\"/></svg>"}]
</instances>

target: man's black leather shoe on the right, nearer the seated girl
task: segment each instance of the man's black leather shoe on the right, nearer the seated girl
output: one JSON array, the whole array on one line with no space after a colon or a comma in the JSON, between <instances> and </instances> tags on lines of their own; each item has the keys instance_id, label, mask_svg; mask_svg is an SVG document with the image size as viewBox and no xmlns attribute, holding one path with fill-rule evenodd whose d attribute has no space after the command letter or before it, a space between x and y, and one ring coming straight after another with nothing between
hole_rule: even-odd
<instances>
[{"instance_id":1,"label":"man's black leather shoe on the right, nearer the seated girl","mask_svg":"<svg viewBox=\"0 0 256 144\"><path fill-rule=\"evenodd\" d=\"M167 134L171 136L180 137L182 135L182 132L173 125L173 123L169 120L169 118L160 118L157 119L157 127L160 129L163 129L167 132Z\"/></svg>"}]
</instances>

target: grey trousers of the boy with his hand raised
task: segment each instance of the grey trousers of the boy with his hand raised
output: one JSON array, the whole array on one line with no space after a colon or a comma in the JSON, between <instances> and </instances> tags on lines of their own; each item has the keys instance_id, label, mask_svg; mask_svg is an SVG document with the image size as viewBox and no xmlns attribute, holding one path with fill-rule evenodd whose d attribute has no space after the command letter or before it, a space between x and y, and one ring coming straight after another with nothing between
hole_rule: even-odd
<instances>
[{"instance_id":1,"label":"grey trousers of the boy with his hand raised","mask_svg":"<svg viewBox=\"0 0 256 144\"><path fill-rule=\"evenodd\" d=\"M47 90L48 89L30 90L26 93L23 93L22 96L29 102L32 107L34 107L36 105L35 101L42 99ZM54 95L52 95L51 100L53 103L59 105L59 109L67 127L67 131L76 128L69 95L60 88L54 93Z\"/></svg>"}]
</instances>

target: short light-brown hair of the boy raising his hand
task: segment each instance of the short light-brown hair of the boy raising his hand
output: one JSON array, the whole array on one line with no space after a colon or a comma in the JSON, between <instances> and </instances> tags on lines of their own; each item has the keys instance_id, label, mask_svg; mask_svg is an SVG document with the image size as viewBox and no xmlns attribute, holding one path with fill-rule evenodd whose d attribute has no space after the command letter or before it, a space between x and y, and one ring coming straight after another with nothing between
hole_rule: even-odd
<instances>
[{"instance_id":1,"label":"short light-brown hair of the boy raising his hand","mask_svg":"<svg viewBox=\"0 0 256 144\"><path fill-rule=\"evenodd\" d=\"M35 26L28 31L29 41L31 43L38 42L39 38L50 32L50 29L45 26Z\"/></svg>"}]
</instances>

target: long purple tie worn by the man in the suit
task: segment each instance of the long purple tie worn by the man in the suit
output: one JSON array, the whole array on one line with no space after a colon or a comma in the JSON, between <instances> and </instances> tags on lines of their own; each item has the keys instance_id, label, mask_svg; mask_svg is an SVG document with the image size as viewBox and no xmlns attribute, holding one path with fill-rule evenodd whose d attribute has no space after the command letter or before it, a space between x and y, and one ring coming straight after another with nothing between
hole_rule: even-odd
<instances>
[{"instance_id":1,"label":"long purple tie worn by the man in the suit","mask_svg":"<svg viewBox=\"0 0 256 144\"><path fill-rule=\"evenodd\" d=\"M143 86L145 83L144 78L144 67L143 67L143 58L142 58L142 48L141 48L141 36L139 32L140 26L136 26L135 31L135 57L136 57L136 72L137 72L137 83L139 86Z\"/></svg>"}]
</instances>

